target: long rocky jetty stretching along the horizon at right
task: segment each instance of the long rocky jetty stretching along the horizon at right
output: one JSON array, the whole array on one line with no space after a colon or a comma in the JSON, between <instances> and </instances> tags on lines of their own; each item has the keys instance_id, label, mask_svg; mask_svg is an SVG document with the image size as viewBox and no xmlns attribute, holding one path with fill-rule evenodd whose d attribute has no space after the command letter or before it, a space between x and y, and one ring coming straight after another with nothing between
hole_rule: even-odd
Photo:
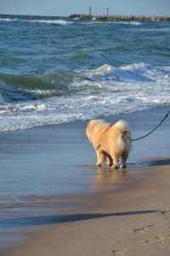
<instances>
[{"instance_id":1,"label":"long rocky jetty stretching along the horizon at right","mask_svg":"<svg viewBox=\"0 0 170 256\"><path fill-rule=\"evenodd\" d=\"M145 15L70 15L70 20L154 20L170 21L170 16Z\"/></svg>"}]
</instances>

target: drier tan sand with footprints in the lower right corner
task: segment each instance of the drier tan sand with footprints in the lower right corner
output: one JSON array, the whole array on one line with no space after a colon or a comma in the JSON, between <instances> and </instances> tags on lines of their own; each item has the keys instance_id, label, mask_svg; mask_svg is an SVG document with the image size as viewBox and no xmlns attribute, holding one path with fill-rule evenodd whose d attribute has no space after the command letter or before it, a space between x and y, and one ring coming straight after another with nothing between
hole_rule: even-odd
<instances>
[{"instance_id":1,"label":"drier tan sand with footprints in the lower right corner","mask_svg":"<svg viewBox=\"0 0 170 256\"><path fill-rule=\"evenodd\" d=\"M92 213L69 214L7 255L169 255L169 166L101 198ZM86 213L87 212L87 213Z\"/></svg>"}]
</instances>

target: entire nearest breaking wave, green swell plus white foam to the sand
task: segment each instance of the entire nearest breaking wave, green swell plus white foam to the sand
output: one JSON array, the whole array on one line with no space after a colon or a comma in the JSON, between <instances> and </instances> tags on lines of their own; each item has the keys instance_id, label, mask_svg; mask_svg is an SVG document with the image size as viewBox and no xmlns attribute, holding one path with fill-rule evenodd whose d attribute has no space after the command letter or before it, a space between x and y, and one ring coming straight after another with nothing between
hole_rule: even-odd
<instances>
[{"instance_id":1,"label":"entire nearest breaking wave, green swell plus white foam to the sand","mask_svg":"<svg viewBox=\"0 0 170 256\"><path fill-rule=\"evenodd\" d=\"M170 67L143 62L46 73L41 78L7 77L0 75L0 131L170 105Z\"/></svg>"}]
</instances>

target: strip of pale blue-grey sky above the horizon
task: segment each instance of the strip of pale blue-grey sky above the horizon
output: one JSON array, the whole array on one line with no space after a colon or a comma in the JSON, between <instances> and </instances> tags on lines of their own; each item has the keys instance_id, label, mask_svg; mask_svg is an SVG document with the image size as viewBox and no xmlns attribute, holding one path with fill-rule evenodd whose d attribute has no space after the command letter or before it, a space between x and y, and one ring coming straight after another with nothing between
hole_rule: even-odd
<instances>
[{"instance_id":1,"label":"strip of pale blue-grey sky above the horizon","mask_svg":"<svg viewBox=\"0 0 170 256\"><path fill-rule=\"evenodd\" d=\"M68 16L72 14L170 15L170 0L0 0L0 14Z\"/></svg>"}]
</instances>

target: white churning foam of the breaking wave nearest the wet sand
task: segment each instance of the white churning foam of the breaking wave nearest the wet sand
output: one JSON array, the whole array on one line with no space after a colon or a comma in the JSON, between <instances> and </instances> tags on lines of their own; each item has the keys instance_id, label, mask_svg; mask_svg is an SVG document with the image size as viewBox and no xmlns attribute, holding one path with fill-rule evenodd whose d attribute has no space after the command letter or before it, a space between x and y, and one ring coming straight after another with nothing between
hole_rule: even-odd
<instances>
[{"instance_id":1,"label":"white churning foam of the breaking wave nearest the wet sand","mask_svg":"<svg viewBox=\"0 0 170 256\"><path fill-rule=\"evenodd\" d=\"M0 131L170 105L169 84L170 67L153 67L145 63L120 67L105 64L94 70L78 70L65 96L6 105L3 102Z\"/></svg>"}]
</instances>

